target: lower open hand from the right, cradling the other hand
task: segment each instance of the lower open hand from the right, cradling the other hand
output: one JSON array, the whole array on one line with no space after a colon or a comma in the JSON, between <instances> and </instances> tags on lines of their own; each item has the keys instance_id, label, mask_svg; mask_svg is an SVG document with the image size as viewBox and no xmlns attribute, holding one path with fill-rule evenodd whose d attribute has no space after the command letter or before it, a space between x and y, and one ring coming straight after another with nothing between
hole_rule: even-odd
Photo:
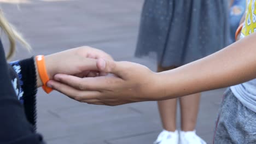
<instances>
[{"instance_id":1,"label":"lower open hand from the right, cradling the other hand","mask_svg":"<svg viewBox=\"0 0 256 144\"><path fill-rule=\"evenodd\" d=\"M114 75L80 78L57 74L47 85L72 99L89 104L114 106L156 100L158 79L147 67L103 59L98 60L97 67Z\"/></svg>"}]
</instances>

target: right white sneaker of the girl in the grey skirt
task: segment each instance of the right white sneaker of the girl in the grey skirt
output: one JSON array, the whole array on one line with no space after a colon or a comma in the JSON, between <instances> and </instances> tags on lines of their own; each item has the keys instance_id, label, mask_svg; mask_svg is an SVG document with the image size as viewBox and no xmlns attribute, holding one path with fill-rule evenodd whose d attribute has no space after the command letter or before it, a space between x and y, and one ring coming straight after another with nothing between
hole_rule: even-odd
<instances>
[{"instance_id":1,"label":"right white sneaker of the girl in the grey skirt","mask_svg":"<svg viewBox=\"0 0 256 144\"><path fill-rule=\"evenodd\" d=\"M179 133L180 141L179 144L206 144L198 135L196 131L181 131Z\"/></svg>"}]
</instances>

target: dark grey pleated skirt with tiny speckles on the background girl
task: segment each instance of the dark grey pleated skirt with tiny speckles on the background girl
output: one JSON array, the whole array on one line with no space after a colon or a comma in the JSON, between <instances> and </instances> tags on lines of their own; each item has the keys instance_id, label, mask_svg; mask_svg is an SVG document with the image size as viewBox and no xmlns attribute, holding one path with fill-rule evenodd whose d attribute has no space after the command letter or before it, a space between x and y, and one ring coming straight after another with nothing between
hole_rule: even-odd
<instances>
[{"instance_id":1,"label":"dark grey pleated skirt with tiny speckles on the background girl","mask_svg":"<svg viewBox=\"0 0 256 144\"><path fill-rule=\"evenodd\" d=\"M228 44L226 0L146 0L135 56L157 54L162 67L181 66Z\"/></svg>"}]
</instances>

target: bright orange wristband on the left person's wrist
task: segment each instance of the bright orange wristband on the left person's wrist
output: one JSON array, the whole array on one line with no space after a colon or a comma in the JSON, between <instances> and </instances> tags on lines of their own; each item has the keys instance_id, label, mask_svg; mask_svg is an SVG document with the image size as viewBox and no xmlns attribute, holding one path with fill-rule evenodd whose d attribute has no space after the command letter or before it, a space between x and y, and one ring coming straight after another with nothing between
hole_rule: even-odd
<instances>
[{"instance_id":1,"label":"bright orange wristband on the left person's wrist","mask_svg":"<svg viewBox=\"0 0 256 144\"><path fill-rule=\"evenodd\" d=\"M48 76L47 71L46 71L45 62L44 62L44 56L43 55L36 56L36 62L37 62L37 71L38 71L40 79L41 79L41 81L43 83L42 88L44 89L44 91L46 93L50 93L51 91L53 91L53 89L51 89L50 87L46 86L46 83L50 79L49 79L49 76Z\"/></svg>"}]
</instances>

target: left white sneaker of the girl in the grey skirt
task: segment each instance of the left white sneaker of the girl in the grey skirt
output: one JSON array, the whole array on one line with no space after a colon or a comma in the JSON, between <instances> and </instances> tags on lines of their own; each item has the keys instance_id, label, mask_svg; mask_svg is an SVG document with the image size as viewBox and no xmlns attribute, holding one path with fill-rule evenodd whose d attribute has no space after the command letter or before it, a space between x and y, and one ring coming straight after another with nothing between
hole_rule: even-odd
<instances>
[{"instance_id":1,"label":"left white sneaker of the girl in the grey skirt","mask_svg":"<svg viewBox=\"0 0 256 144\"><path fill-rule=\"evenodd\" d=\"M154 144L178 144L178 141L179 141L178 130L174 132L163 130L158 135L158 139L156 139Z\"/></svg>"}]
</instances>

